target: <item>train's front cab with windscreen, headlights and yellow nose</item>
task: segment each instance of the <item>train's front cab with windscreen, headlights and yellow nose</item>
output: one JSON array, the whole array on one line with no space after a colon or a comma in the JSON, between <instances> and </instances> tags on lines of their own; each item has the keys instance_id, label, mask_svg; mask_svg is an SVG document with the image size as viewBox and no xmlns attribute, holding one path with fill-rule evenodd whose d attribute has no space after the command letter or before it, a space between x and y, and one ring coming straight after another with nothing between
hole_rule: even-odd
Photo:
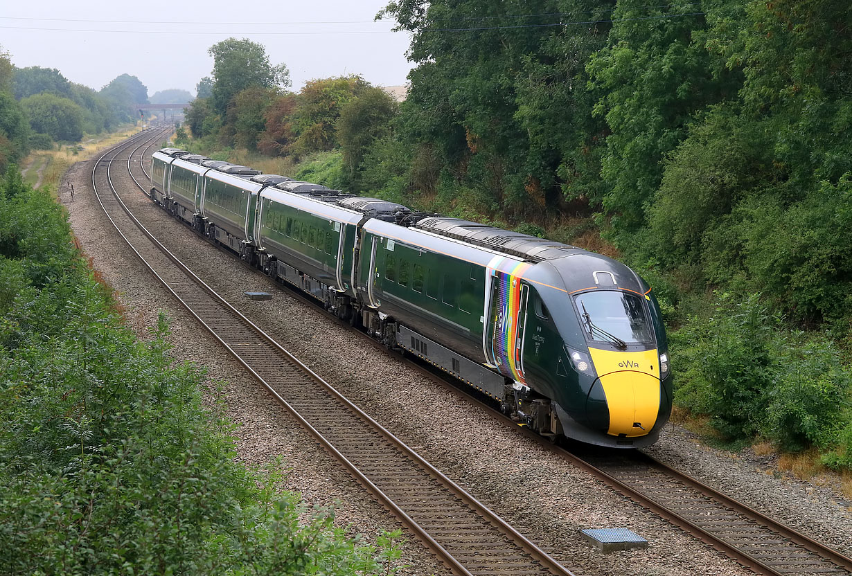
<instances>
[{"instance_id":1,"label":"train's front cab with windscreen, headlights and yellow nose","mask_svg":"<svg viewBox=\"0 0 852 576\"><path fill-rule=\"evenodd\" d=\"M599 446L653 444L671 414L671 369L648 288L572 294L529 285L526 380L554 400L563 434Z\"/></svg>"}]
</instances>

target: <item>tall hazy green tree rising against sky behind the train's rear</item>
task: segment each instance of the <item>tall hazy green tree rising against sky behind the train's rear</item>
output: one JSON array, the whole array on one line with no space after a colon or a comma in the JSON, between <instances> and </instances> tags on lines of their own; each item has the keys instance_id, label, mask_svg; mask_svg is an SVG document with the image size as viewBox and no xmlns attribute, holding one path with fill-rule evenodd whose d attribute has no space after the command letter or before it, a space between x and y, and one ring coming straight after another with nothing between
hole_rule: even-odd
<instances>
[{"instance_id":1,"label":"tall hazy green tree rising against sky behind the train's rear","mask_svg":"<svg viewBox=\"0 0 852 576\"><path fill-rule=\"evenodd\" d=\"M272 66L263 45L248 38L222 40L207 52L213 56L213 107L222 115L227 112L233 96L241 90L285 88L291 84L287 67L283 64Z\"/></svg>"}]
</instances>

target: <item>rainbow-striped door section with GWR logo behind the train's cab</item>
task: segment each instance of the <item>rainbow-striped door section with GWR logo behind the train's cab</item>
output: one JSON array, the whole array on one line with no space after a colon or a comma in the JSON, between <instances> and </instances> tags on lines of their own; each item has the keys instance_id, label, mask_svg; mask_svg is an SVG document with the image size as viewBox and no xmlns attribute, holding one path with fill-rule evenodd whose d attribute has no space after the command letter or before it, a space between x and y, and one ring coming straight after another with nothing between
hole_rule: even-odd
<instances>
[{"instance_id":1,"label":"rainbow-striped door section with GWR logo behind the train's cab","mask_svg":"<svg viewBox=\"0 0 852 576\"><path fill-rule=\"evenodd\" d=\"M529 286L512 274L496 269L491 273L486 297L488 323L482 335L486 360L505 377L526 385L523 348Z\"/></svg>"}]
</instances>

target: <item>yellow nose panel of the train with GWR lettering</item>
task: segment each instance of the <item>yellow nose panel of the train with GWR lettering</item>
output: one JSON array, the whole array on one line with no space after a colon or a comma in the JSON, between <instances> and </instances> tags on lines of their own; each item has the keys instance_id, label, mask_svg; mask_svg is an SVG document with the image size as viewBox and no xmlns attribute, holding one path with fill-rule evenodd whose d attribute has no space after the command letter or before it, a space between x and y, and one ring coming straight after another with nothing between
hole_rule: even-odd
<instances>
[{"instance_id":1,"label":"yellow nose panel of the train with GWR lettering","mask_svg":"<svg viewBox=\"0 0 852 576\"><path fill-rule=\"evenodd\" d=\"M659 355L656 349L620 352L589 348L609 410L607 434L647 435L659 414Z\"/></svg>"}]
</instances>

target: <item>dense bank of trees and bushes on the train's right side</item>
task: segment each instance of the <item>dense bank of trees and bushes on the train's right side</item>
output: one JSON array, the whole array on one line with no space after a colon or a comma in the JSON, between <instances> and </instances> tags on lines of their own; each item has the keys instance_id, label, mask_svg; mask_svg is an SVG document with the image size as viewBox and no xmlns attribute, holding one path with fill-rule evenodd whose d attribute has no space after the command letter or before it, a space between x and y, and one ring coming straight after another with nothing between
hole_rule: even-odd
<instances>
[{"instance_id":1,"label":"dense bank of trees and bushes on the train's right side","mask_svg":"<svg viewBox=\"0 0 852 576\"><path fill-rule=\"evenodd\" d=\"M519 6L389 3L406 101L358 77L211 96L193 148L618 256L663 303L681 408L849 466L852 5Z\"/></svg>"}]
</instances>

